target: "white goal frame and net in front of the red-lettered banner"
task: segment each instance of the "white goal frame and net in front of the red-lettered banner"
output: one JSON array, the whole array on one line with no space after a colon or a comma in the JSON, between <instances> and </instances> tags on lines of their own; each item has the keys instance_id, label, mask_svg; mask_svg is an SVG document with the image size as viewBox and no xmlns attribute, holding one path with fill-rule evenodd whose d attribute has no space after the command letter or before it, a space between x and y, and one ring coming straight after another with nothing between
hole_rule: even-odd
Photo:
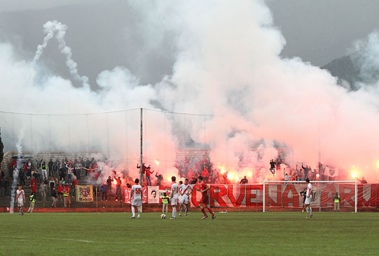
<instances>
[{"instance_id":1,"label":"white goal frame and net in front of the red-lettered banner","mask_svg":"<svg viewBox=\"0 0 379 256\"><path fill-rule=\"evenodd\" d=\"M340 196L339 211L357 212L357 181L311 181L313 211L332 212L336 193ZM305 181L263 181L263 212L302 211L300 192L307 187Z\"/></svg>"}]
</instances>

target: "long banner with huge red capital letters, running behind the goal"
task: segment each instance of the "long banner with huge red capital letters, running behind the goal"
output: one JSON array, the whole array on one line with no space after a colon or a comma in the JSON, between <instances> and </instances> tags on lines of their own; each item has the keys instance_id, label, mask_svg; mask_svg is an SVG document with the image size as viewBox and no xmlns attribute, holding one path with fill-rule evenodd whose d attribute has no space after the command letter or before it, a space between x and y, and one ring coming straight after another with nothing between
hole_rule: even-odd
<instances>
[{"instance_id":1,"label":"long banner with huge red capital letters, running behind the goal","mask_svg":"<svg viewBox=\"0 0 379 256\"><path fill-rule=\"evenodd\" d=\"M211 207L262 207L263 185L246 184L209 184L209 204ZM305 184L267 184L266 206L301 207L303 197L300 192ZM199 206L201 193L196 191L199 184L193 185L191 207ZM338 192L341 207L354 207L354 184L318 183L313 185L313 206L334 207L333 196ZM357 206L379 206L379 184L357 185Z\"/></svg>"}]
</instances>

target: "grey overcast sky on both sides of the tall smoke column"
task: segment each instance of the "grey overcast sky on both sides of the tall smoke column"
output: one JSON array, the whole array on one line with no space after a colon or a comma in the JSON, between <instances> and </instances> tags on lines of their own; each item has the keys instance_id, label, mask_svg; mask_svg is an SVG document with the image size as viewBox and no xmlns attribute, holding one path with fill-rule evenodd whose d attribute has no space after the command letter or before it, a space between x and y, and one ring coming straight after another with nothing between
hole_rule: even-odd
<instances>
[{"instance_id":1,"label":"grey overcast sky on both sides of the tall smoke column","mask_svg":"<svg viewBox=\"0 0 379 256\"><path fill-rule=\"evenodd\" d=\"M299 56L316 66L346 55L354 41L379 28L376 0L269 0L267 4L287 41L282 56ZM0 0L0 11L0 41L11 42L28 58L41 43L47 20L67 24L67 43L92 83L100 71L117 65L127 66L143 83L154 83L170 71L174 60L175 49L167 46L169 42L166 52L141 54L145 38L135 25L140 17L126 1ZM65 75L56 48L50 47L46 54L44 61ZM149 63L143 63L146 57Z\"/></svg>"}]
</instances>

